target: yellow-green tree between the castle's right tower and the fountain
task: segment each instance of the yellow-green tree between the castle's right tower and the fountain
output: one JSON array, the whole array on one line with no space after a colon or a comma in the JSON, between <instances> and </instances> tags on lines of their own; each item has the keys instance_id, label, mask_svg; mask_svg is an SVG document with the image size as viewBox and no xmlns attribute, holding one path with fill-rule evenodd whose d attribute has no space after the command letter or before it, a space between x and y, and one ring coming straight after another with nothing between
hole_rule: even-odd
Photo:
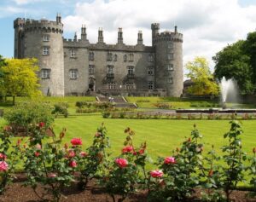
<instances>
[{"instance_id":1,"label":"yellow-green tree between the castle's right tower and the fountain","mask_svg":"<svg viewBox=\"0 0 256 202\"><path fill-rule=\"evenodd\" d=\"M194 83L188 89L189 94L218 95L218 84L213 79L206 58L195 57L194 61L189 61L186 64L186 68L189 70L187 77Z\"/></svg>"}]
</instances>

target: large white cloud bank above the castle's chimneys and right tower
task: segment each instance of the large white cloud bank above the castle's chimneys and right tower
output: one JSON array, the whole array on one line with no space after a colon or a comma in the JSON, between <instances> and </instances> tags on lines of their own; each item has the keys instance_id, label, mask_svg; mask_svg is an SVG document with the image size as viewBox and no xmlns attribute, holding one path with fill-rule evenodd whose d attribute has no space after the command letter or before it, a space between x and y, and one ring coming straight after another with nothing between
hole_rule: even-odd
<instances>
[{"instance_id":1,"label":"large white cloud bank above the castle's chimneys and right tower","mask_svg":"<svg viewBox=\"0 0 256 202\"><path fill-rule=\"evenodd\" d=\"M126 44L137 43L137 31L142 30L147 45L151 23L160 22L160 31L177 25L183 33L183 64L205 56L213 66L216 52L255 31L255 10L253 5L241 7L237 0L95 0L77 3L63 22L64 32L79 31L86 24L91 43L97 40L98 27L103 27L106 43L116 43L118 27L123 27Z\"/></svg>"}]
</instances>

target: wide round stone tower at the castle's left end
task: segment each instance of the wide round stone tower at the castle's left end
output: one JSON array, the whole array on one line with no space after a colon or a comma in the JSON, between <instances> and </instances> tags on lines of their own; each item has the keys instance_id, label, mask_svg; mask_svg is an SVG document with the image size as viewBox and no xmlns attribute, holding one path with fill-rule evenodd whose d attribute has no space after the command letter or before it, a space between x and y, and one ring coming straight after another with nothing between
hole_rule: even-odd
<instances>
[{"instance_id":1,"label":"wide round stone tower at the castle's left end","mask_svg":"<svg viewBox=\"0 0 256 202\"><path fill-rule=\"evenodd\" d=\"M44 95L64 95L63 24L58 14L56 21L29 20L23 27L24 57L38 59L41 90Z\"/></svg>"}]
</instances>

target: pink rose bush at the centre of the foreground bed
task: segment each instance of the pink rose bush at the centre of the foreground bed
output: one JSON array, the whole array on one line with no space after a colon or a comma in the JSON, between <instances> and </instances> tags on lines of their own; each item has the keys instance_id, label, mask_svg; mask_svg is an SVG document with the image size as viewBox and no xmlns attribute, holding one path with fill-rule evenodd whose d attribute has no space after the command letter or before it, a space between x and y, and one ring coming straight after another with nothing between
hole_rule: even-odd
<instances>
[{"instance_id":1,"label":"pink rose bush at the centre of the foreground bed","mask_svg":"<svg viewBox=\"0 0 256 202\"><path fill-rule=\"evenodd\" d=\"M135 148L133 145L134 131L125 129L127 134L121 155L108 167L108 174L103 177L102 184L111 195L113 202L114 194L121 195L118 201L123 201L130 193L135 192L138 184L148 184L148 176L145 171L147 153L146 143Z\"/></svg>"}]
</instances>

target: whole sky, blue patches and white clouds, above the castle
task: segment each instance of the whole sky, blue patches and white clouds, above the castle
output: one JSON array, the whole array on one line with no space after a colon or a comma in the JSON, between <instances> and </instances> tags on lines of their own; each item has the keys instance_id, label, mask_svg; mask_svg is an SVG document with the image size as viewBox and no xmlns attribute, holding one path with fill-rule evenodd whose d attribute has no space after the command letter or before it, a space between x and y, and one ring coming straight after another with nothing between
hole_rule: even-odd
<instances>
[{"instance_id":1,"label":"whole sky, blue patches and white clouds, above the castle","mask_svg":"<svg viewBox=\"0 0 256 202\"><path fill-rule=\"evenodd\" d=\"M123 27L125 43L137 43L142 30L144 43L151 45L151 23L160 22L160 31L177 25L184 63L205 56L213 66L216 52L255 31L255 10L256 0L0 0L0 55L13 57L17 17L55 20L60 12L64 37L73 38L85 24L90 43L96 43L98 27L106 43L116 43L117 29Z\"/></svg>"}]
</instances>

